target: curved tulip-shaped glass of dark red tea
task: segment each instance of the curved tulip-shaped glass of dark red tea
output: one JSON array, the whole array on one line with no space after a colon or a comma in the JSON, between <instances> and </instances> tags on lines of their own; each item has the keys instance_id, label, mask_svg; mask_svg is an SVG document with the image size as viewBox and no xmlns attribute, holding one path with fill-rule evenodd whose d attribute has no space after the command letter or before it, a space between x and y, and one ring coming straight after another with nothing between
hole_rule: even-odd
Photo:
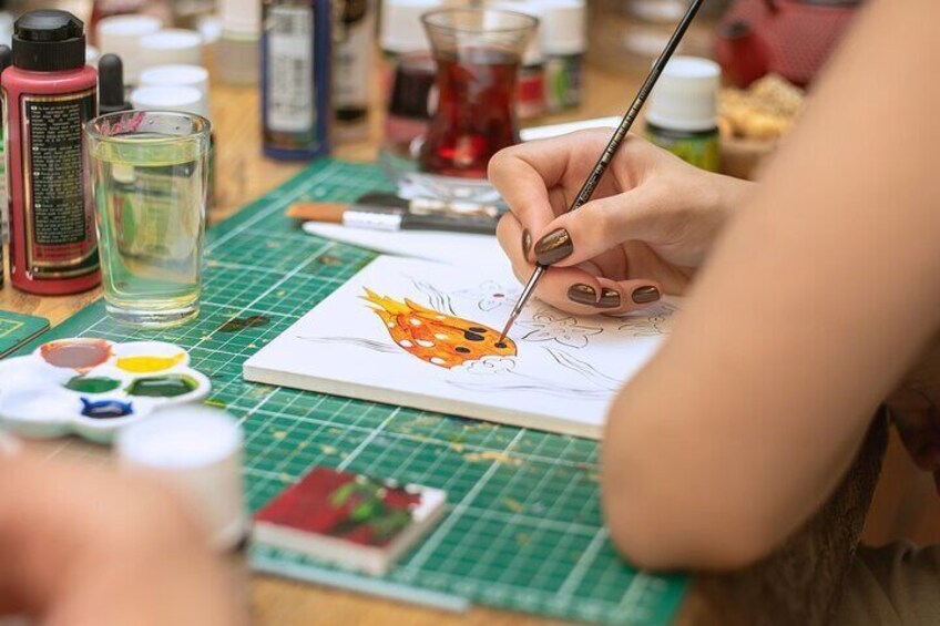
<instances>
[{"instance_id":1,"label":"curved tulip-shaped glass of dark red tea","mask_svg":"<svg viewBox=\"0 0 940 626\"><path fill-rule=\"evenodd\" d=\"M490 157L519 143L515 81L539 20L495 9L445 9L421 21L438 65L438 105L421 146L421 171L486 178Z\"/></svg>"}]
</instances>

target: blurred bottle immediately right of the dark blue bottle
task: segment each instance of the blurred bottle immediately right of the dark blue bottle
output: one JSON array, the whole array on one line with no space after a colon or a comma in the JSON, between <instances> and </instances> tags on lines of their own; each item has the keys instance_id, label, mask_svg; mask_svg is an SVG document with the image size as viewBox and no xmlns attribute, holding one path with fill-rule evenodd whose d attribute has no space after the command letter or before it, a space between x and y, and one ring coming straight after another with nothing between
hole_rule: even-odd
<instances>
[{"instance_id":1,"label":"blurred bottle immediately right of the dark blue bottle","mask_svg":"<svg viewBox=\"0 0 940 626\"><path fill-rule=\"evenodd\" d=\"M333 54L333 104L336 140L369 134L369 84L372 71L375 0L336 0Z\"/></svg>"}]
</instances>

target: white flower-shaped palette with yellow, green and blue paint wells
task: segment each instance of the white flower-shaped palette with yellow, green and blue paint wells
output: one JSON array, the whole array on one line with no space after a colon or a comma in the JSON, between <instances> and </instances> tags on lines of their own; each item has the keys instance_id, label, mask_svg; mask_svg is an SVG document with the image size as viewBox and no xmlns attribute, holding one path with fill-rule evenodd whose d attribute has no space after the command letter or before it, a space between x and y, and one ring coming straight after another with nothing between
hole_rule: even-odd
<instances>
[{"instance_id":1,"label":"white flower-shaped palette with yellow, green and blue paint wells","mask_svg":"<svg viewBox=\"0 0 940 626\"><path fill-rule=\"evenodd\" d=\"M108 442L156 409L204 400L210 388L172 343L59 339L0 361L0 421L23 437Z\"/></svg>"}]
</instances>

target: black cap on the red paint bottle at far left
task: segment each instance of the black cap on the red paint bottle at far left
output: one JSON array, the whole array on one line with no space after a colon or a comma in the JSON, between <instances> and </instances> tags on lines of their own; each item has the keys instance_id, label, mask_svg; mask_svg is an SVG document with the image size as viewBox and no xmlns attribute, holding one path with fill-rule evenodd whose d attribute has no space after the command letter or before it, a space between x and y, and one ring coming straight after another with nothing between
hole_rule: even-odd
<instances>
[{"instance_id":1,"label":"black cap on the red paint bottle at far left","mask_svg":"<svg viewBox=\"0 0 940 626\"><path fill-rule=\"evenodd\" d=\"M68 11L44 9L13 24L13 65L34 72L76 70L85 64L82 21Z\"/></svg>"}]
</instances>

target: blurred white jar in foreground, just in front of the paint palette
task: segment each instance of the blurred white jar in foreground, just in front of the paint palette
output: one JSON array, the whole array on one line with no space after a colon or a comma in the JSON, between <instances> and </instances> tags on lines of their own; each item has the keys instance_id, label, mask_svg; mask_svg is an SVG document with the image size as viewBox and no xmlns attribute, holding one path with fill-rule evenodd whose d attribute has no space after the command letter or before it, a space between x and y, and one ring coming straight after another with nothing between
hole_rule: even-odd
<instances>
[{"instance_id":1,"label":"blurred white jar in foreground, just in front of the paint palette","mask_svg":"<svg viewBox=\"0 0 940 626\"><path fill-rule=\"evenodd\" d=\"M121 468L156 478L190 503L217 550L248 528L242 483L242 429L232 415L201 406L164 409L117 434Z\"/></svg>"}]
</instances>

